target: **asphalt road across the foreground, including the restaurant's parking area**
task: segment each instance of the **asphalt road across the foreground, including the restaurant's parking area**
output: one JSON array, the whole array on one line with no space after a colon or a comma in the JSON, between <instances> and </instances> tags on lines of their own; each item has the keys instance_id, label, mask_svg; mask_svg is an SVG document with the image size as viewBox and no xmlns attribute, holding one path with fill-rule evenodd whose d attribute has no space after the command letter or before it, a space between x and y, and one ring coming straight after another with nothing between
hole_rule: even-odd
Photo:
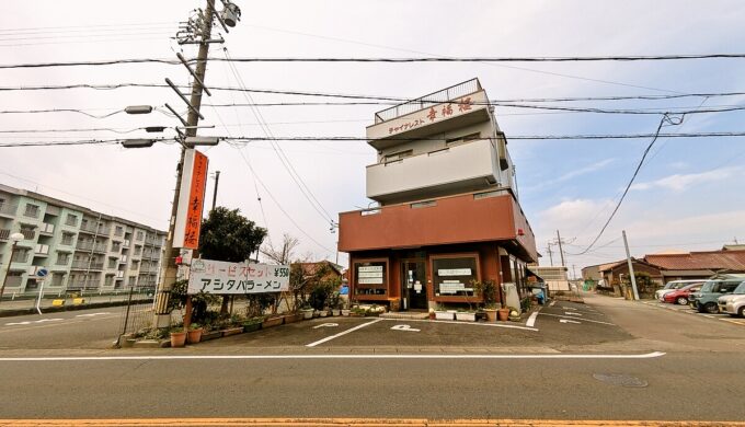
<instances>
[{"instance_id":1,"label":"asphalt road across the foreground, including the restaurant's parking area","mask_svg":"<svg viewBox=\"0 0 745 427\"><path fill-rule=\"evenodd\" d=\"M744 325L586 302L532 327L326 318L183 349L8 348L0 324L0 418L745 419Z\"/></svg>"}]
</instances>

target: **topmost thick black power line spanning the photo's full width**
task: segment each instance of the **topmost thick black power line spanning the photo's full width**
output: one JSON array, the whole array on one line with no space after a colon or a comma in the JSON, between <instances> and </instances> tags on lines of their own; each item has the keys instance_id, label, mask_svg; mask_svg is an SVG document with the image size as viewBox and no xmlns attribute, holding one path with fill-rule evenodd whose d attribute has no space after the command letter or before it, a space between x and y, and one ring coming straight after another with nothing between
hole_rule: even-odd
<instances>
[{"instance_id":1,"label":"topmost thick black power line spanning the photo's full width","mask_svg":"<svg viewBox=\"0 0 745 427\"><path fill-rule=\"evenodd\" d=\"M619 55L619 56L574 56L574 57L420 57L420 58L208 58L220 62L598 62L598 61L656 61L690 59L742 59L745 54L700 54L700 55ZM188 62L195 62L190 59ZM49 68L49 67L98 67L123 64L168 64L180 61L162 58L128 58L95 61L59 61L35 64L7 64L0 69Z\"/></svg>"}]
</instances>

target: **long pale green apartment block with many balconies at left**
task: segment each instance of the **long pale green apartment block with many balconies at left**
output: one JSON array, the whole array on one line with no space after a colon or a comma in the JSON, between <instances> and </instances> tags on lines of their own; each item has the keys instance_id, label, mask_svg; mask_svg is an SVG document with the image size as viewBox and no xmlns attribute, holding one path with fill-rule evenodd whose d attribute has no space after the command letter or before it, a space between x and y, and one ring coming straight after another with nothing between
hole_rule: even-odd
<instances>
[{"instance_id":1,"label":"long pale green apartment block with many balconies at left","mask_svg":"<svg viewBox=\"0 0 745 427\"><path fill-rule=\"evenodd\" d=\"M23 234L11 259L11 235ZM0 184L0 275L5 295L156 287L165 232Z\"/></svg>"}]
</instances>

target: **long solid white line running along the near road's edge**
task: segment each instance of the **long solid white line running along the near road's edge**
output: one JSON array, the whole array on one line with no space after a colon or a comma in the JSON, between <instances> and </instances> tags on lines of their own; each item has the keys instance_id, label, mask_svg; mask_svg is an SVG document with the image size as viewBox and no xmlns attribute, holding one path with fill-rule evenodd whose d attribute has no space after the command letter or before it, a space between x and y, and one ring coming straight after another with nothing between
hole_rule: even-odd
<instances>
[{"instance_id":1,"label":"long solid white line running along the near road's edge","mask_svg":"<svg viewBox=\"0 0 745 427\"><path fill-rule=\"evenodd\" d=\"M641 355L215 355L215 356L57 356L57 357L5 357L0 362L8 361L111 361L111 360L272 360L272 359L653 359L665 356L663 351L645 353Z\"/></svg>"}]
</instances>

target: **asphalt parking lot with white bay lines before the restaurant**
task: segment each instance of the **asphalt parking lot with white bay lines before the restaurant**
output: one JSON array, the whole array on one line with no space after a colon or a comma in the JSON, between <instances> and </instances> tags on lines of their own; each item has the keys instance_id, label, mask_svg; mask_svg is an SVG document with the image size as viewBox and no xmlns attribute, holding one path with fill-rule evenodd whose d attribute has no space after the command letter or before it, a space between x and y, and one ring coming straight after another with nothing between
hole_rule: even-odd
<instances>
[{"instance_id":1,"label":"asphalt parking lot with white bay lines before the restaurant","mask_svg":"<svg viewBox=\"0 0 745 427\"><path fill-rule=\"evenodd\" d=\"M519 322L456 322L334 316L199 344L272 351L559 353L631 336L585 304L557 301Z\"/></svg>"}]
</instances>

